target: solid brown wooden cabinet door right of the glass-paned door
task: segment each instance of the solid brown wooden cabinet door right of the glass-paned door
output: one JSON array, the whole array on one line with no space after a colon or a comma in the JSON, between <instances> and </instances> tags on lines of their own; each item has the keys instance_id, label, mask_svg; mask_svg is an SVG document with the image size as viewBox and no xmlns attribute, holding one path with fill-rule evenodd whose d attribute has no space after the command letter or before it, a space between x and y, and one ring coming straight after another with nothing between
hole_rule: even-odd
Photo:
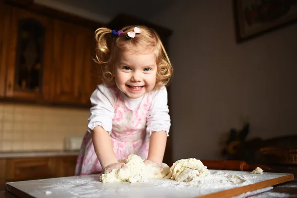
<instances>
[{"instance_id":1,"label":"solid brown wooden cabinet door right of the glass-paned door","mask_svg":"<svg viewBox=\"0 0 297 198\"><path fill-rule=\"evenodd\" d=\"M80 26L55 20L53 28L51 100L81 103L86 39Z\"/></svg>"}]
</instances>

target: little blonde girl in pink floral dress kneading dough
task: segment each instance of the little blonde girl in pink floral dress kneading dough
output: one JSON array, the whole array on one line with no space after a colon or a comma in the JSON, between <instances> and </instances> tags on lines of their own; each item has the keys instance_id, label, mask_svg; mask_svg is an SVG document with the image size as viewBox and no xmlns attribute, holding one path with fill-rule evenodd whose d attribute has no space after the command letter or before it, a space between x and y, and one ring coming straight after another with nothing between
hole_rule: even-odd
<instances>
[{"instance_id":1,"label":"little blonde girl in pink floral dress kneading dough","mask_svg":"<svg viewBox=\"0 0 297 198\"><path fill-rule=\"evenodd\" d=\"M102 84L91 96L75 175L125 167L137 154L161 169L170 128L165 85L173 73L158 34L146 26L96 31Z\"/></svg>"}]
</instances>

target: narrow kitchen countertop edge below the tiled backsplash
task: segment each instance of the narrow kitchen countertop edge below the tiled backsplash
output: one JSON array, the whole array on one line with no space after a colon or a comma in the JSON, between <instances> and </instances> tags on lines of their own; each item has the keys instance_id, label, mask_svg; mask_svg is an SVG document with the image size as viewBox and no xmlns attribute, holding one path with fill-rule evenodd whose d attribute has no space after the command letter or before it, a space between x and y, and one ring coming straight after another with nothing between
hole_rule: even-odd
<instances>
[{"instance_id":1,"label":"narrow kitchen countertop edge below the tiled backsplash","mask_svg":"<svg viewBox=\"0 0 297 198\"><path fill-rule=\"evenodd\" d=\"M76 156L78 150L0 152L1 158Z\"/></svg>"}]
</instances>

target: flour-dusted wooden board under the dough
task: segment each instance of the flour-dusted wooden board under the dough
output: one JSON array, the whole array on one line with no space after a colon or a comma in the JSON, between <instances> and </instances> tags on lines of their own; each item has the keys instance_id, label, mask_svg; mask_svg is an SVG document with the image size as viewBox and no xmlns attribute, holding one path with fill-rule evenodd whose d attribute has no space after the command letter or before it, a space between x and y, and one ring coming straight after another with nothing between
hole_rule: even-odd
<instances>
[{"instance_id":1,"label":"flour-dusted wooden board under the dough","mask_svg":"<svg viewBox=\"0 0 297 198\"><path fill-rule=\"evenodd\" d=\"M99 174L6 183L21 198L229 198L294 180L293 174L210 170L211 175L194 182L153 179L143 183L101 183ZM50 194L46 194L50 192Z\"/></svg>"}]
</instances>

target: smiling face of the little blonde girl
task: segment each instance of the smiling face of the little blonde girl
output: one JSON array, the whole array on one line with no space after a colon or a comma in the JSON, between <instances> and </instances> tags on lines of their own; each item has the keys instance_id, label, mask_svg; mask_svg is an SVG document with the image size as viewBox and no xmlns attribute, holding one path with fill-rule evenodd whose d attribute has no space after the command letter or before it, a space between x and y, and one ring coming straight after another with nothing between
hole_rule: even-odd
<instances>
[{"instance_id":1,"label":"smiling face of the little blonde girl","mask_svg":"<svg viewBox=\"0 0 297 198\"><path fill-rule=\"evenodd\" d=\"M119 51L115 64L115 84L129 98L137 99L150 92L156 83L157 65L154 52Z\"/></svg>"}]
</instances>

